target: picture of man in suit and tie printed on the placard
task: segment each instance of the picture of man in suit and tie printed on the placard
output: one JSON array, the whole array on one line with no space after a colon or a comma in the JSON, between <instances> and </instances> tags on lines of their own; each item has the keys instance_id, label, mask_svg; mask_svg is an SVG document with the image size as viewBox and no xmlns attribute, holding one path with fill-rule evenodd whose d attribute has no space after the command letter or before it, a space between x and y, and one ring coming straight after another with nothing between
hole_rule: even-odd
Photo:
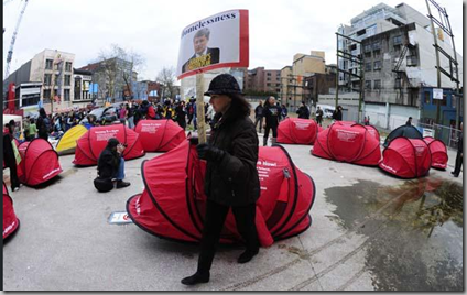
<instances>
[{"instance_id":1,"label":"picture of man in suit and tie printed on the placard","mask_svg":"<svg viewBox=\"0 0 467 295\"><path fill-rule=\"evenodd\" d=\"M209 35L210 31L207 28L196 32L193 37L195 54L183 65L182 73L219 63L219 48L207 47Z\"/></svg>"}]
</instances>

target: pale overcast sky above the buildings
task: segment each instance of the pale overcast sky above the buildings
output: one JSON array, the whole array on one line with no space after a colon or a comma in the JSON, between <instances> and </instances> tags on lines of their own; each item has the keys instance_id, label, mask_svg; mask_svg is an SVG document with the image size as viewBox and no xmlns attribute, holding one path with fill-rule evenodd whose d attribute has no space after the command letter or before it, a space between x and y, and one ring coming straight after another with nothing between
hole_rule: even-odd
<instances>
[{"instance_id":1,"label":"pale overcast sky above the buildings","mask_svg":"<svg viewBox=\"0 0 467 295\"><path fill-rule=\"evenodd\" d=\"M3 0L4 2L6 0ZM182 30L200 19L230 9L250 14L250 68L281 69L295 53L325 51L336 62L335 32L340 24L381 1L372 0L30 0L10 73L44 48L76 54L75 67L94 62L115 43L140 53L145 68L139 78L155 79L163 67L176 67ZM387 0L394 7L401 0ZM406 0L427 13L424 0ZM463 53L463 1L437 0L445 7L457 52ZM24 0L3 6L3 61ZM436 14L437 15L437 14ZM4 67L3 67L4 73Z\"/></svg>"}]
</instances>

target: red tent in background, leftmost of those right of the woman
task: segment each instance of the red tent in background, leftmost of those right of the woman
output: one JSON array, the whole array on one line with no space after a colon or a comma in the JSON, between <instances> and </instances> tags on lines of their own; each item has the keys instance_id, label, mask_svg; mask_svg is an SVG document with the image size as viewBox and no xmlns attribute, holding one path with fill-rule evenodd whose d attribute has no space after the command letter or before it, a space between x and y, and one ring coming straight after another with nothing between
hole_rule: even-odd
<instances>
[{"instance_id":1,"label":"red tent in background, leftmost of those right of the woman","mask_svg":"<svg viewBox=\"0 0 467 295\"><path fill-rule=\"evenodd\" d=\"M314 144L319 127L314 120L287 118L279 123L278 142L289 144Z\"/></svg>"}]
</instances>

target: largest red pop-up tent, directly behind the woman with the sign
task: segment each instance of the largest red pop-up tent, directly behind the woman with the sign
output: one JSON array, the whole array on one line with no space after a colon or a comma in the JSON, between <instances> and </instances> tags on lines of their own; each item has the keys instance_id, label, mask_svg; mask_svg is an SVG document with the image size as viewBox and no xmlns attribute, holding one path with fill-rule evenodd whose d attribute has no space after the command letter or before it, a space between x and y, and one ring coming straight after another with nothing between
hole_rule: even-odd
<instances>
[{"instance_id":1,"label":"largest red pop-up tent, directly behind the woman with the sign","mask_svg":"<svg viewBox=\"0 0 467 295\"><path fill-rule=\"evenodd\" d=\"M171 240L198 242L202 237L206 196L205 162L188 141L164 155L144 161L145 189L127 201L127 212L141 229ZM257 168L261 196L257 203L257 229L262 245L305 231L312 222L315 199L313 179L295 167L282 146L260 148ZM222 243L240 241L229 212Z\"/></svg>"}]
</instances>

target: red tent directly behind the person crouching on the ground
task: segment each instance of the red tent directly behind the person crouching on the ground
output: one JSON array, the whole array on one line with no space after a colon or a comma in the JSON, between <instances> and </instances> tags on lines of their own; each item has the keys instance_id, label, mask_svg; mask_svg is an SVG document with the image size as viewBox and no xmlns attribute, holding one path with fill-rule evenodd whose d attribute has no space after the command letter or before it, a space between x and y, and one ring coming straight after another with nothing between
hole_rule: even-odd
<instances>
[{"instance_id":1,"label":"red tent directly behind the person crouching on the ground","mask_svg":"<svg viewBox=\"0 0 467 295\"><path fill-rule=\"evenodd\" d=\"M117 138L120 143L127 144L123 159L131 160L144 155L139 134L123 124L93 127L76 142L75 160L78 166L97 165L100 153L106 149L107 141Z\"/></svg>"}]
</instances>

